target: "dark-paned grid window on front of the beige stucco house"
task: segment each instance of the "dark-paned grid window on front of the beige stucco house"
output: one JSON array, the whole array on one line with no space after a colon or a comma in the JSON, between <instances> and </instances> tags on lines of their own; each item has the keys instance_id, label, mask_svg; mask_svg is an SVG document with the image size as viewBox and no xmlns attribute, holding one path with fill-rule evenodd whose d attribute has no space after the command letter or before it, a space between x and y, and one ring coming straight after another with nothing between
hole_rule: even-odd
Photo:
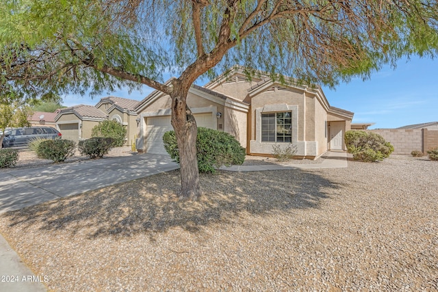
<instances>
[{"instance_id":1,"label":"dark-paned grid window on front of the beige stucco house","mask_svg":"<svg viewBox=\"0 0 438 292\"><path fill-rule=\"evenodd\" d=\"M292 142L292 111L261 114L261 142Z\"/></svg>"}]
</instances>

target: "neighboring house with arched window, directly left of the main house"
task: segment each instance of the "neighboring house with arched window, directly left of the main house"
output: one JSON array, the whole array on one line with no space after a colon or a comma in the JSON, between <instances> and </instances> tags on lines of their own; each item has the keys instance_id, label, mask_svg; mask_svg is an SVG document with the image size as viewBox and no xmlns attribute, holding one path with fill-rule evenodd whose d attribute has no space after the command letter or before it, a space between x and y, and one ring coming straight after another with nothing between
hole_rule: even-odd
<instances>
[{"instance_id":1,"label":"neighboring house with arched window, directly left of the main house","mask_svg":"<svg viewBox=\"0 0 438 292\"><path fill-rule=\"evenodd\" d=\"M137 126L137 111L135 110L138 101L133 99L121 98L116 96L107 96L101 98L101 101L95 107L105 112L109 120L116 120L123 124L127 129L126 145L131 145L135 142L138 132Z\"/></svg>"}]
</instances>

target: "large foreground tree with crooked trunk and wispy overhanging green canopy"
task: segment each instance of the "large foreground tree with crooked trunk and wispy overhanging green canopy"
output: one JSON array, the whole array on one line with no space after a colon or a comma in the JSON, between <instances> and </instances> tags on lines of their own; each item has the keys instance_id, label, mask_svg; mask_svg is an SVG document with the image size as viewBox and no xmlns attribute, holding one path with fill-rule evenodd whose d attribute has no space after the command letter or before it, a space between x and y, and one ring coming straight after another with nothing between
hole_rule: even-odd
<instances>
[{"instance_id":1,"label":"large foreground tree with crooked trunk and wispy overhanging green canopy","mask_svg":"<svg viewBox=\"0 0 438 292\"><path fill-rule=\"evenodd\" d=\"M14 96L141 84L172 99L181 197L201 196L192 83L233 64L334 86L403 55L437 55L432 0L3 0L0 86ZM50 21L48 21L48 19ZM177 76L162 82L162 72ZM276 74L281 72L281 75Z\"/></svg>"}]
</instances>

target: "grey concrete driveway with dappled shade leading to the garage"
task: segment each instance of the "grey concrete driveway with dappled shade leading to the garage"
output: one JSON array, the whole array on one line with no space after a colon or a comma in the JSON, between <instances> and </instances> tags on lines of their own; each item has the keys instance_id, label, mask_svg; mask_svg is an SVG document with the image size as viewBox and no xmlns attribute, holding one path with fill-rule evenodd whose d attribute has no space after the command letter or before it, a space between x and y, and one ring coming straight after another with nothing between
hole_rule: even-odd
<instances>
[{"instance_id":1,"label":"grey concrete driveway with dappled shade leading to the garage","mask_svg":"<svg viewBox=\"0 0 438 292\"><path fill-rule=\"evenodd\" d=\"M138 154L0 172L0 213L178 168L168 155Z\"/></svg>"}]
</instances>

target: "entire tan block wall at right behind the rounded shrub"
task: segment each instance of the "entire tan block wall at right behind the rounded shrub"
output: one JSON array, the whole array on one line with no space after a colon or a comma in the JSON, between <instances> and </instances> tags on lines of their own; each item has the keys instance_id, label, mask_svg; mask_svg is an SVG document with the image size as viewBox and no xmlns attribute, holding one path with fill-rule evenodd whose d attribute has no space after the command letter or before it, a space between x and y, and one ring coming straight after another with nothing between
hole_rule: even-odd
<instances>
[{"instance_id":1,"label":"entire tan block wall at right behind the rounded shrub","mask_svg":"<svg viewBox=\"0 0 438 292\"><path fill-rule=\"evenodd\" d=\"M438 131L427 129L376 129L377 133L394 146L394 154L411 155L412 150L424 153L430 148L438 147Z\"/></svg>"}]
</instances>

